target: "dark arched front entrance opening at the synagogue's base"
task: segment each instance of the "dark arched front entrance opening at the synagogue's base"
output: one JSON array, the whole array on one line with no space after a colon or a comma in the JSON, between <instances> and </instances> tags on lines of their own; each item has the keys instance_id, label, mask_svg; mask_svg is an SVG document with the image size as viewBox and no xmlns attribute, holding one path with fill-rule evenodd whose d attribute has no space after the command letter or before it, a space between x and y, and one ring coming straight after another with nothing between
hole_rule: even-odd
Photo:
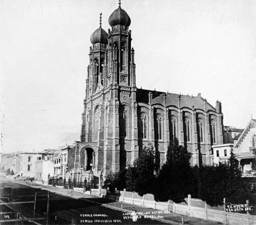
<instances>
[{"instance_id":1,"label":"dark arched front entrance opening at the synagogue's base","mask_svg":"<svg viewBox=\"0 0 256 225\"><path fill-rule=\"evenodd\" d=\"M81 151L80 159L81 168L85 170L95 168L95 151L91 147L86 147Z\"/></svg>"}]
</instances>

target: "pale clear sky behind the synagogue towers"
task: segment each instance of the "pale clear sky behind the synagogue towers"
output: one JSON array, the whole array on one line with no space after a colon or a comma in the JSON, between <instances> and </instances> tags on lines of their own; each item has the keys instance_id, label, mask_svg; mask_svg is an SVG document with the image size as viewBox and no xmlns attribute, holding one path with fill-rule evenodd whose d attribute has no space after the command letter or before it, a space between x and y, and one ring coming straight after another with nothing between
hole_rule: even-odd
<instances>
[{"instance_id":1,"label":"pale clear sky behind the synagogue towers","mask_svg":"<svg viewBox=\"0 0 256 225\"><path fill-rule=\"evenodd\" d=\"M80 139L90 36L117 0L0 0L1 152ZM222 102L224 125L256 118L256 1L122 0L136 86Z\"/></svg>"}]
</instances>

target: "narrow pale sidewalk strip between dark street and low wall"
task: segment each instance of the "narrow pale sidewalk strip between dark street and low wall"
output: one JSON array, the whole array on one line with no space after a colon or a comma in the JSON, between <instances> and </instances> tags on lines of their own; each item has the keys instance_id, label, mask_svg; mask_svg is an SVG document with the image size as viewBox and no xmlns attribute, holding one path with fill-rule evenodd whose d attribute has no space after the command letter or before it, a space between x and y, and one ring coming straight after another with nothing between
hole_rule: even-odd
<instances>
[{"instance_id":1,"label":"narrow pale sidewalk strip between dark street and low wall","mask_svg":"<svg viewBox=\"0 0 256 225\"><path fill-rule=\"evenodd\" d=\"M19 182L23 185L28 185L31 187L38 187L42 188L43 190L47 190L50 192L55 192L56 194L59 195L64 195L68 197L72 197L73 199L84 199L85 201L90 201L89 199L102 199L101 197L97 196L92 196L92 195L87 195L83 194L81 192L76 192L72 191L71 195L71 190L63 189L63 188L57 188L57 187L52 187L52 186L43 186L43 185L38 185L35 183L24 183L24 182ZM95 203L95 201L94 201ZM133 211L133 208L136 210L138 213L145 213L147 212L149 215L162 215L163 218L152 218L155 219L156 221L160 221L163 223L169 223L169 224L182 224L182 218L184 224L191 224L191 225L217 225L217 224L222 224L218 222L213 222L213 221L205 221L204 219L199 219L195 217L188 217L186 215L180 215L176 213L161 213L160 210L152 209L152 208L144 208L138 205L132 205L132 204L127 204L127 203L121 203L121 202L111 202L111 203L98 203L101 206L105 206L107 208L112 208L114 210L119 210L124 213L130 213Z\"/></svg>"}]
</instances>

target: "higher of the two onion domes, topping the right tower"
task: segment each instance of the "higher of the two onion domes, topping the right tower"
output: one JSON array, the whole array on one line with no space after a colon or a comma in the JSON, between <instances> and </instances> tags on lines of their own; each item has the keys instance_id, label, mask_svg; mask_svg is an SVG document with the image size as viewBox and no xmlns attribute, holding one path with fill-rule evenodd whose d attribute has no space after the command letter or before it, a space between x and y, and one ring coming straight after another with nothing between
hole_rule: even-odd
<instances>
[{"instance_id":1,"label":"higher of the two onion domes, topping the right tower","mask_svg":"<svg viewBox=\"0 0 256 225\"><path fill-rule=\"evenodd\" d=\"M119 2L119 7L109 16L108 23L111 26L130 26L131 19L127 12L121 8L121 2Z\"/></svg>"}]
</instances>

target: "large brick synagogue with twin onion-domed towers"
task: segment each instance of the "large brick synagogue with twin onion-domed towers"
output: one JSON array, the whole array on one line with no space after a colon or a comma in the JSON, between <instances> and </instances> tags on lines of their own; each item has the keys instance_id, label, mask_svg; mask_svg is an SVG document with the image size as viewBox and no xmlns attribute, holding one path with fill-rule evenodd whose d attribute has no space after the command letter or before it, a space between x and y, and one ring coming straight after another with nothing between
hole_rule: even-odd
<instances>
[{"instance_id":1,"label":"large brick synagogue with twin onion-domed towers","mask_svg":"<svg viewBox=\"0 0 256 225\"><path fill-rule=\"evenodd\" d=\"M192 164L211 163L211 146L223 143L221 103L213 107L201 94L138 89L130 23L118 7L109 17L108 33L100 22L91 36L81 140L75 145L73 173L118 172L133 165L149 143L155 147L160 167L174 138L192 152Z\"/></svg>"}]
</instances>

